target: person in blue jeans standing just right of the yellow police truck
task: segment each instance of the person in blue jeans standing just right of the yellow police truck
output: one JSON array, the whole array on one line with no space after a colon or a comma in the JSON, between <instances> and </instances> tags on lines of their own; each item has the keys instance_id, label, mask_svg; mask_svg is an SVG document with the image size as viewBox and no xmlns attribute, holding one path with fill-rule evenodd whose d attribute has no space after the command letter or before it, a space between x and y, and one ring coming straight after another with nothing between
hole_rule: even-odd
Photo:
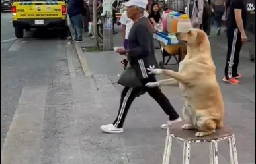
<instances>
[{"instance_id":1,"label":"person in blue jeans standing just right of the yellow police truck","mask_svg":"<svg viewBox=\"0 0 256 164\"><path fill-rule=\"evenodd\" d=\"M85 9L83 7L83 0L69 0L67 6L67 14L69 15L70 22L75 29L75 42L83 42L83 15Z\"/></svg>"}]
</instances>

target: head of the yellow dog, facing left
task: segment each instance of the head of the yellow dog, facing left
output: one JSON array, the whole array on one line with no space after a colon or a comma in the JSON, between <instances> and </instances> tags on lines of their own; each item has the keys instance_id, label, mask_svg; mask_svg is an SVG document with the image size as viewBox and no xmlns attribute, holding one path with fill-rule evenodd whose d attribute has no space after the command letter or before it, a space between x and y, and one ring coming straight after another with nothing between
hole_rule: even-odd
<instances>
[{"instance_id":1,"label":"head of the yellow dog, facing left","mask_svg":"<svg viewBox=\"0 0 256 164\"><path fill-rule=\"evenodd\" d=\"M200 29L191 28L189 32L177 32L176 37L179 41L187 43L189 47L201 47L210 45L207 34Z\"/></svg>"}]
</instances>

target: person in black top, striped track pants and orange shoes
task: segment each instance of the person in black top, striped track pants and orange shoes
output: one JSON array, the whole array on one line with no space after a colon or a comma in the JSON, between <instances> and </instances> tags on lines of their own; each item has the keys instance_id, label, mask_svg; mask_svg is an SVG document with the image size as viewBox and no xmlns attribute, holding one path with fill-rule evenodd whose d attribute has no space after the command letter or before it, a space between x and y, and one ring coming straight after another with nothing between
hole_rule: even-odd
<instances>
[{"instance_id":1,"label":"person in black top, striped track pants and orange shoes","mask_svg":"<svg viewBox=\"0 0 256 164\"><path fill-rule=\"evenodd\" d=\"M238 74L237 68L240 51L243 42L247 41L245 34L246 6L243 0L229 0L226 5L228 8L226 20L228 51L223 81L230 84L239 84L240 81L237 79L241 78L241 74Z\"/></svg>"}]
</instances>

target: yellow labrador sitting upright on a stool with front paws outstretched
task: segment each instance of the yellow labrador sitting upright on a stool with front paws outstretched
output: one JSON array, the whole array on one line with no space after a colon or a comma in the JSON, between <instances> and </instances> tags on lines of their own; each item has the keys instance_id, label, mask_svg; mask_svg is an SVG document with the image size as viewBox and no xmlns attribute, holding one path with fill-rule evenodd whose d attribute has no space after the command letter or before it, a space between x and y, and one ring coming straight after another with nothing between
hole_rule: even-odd
<instances>
[{"instance_id":1,"label":"yellow labrador sitting upright on a stool with front paws outstretched","mask_svg":"<svg viewBox=\"0 0 256 164\"><path fill-rule=\"evenodd\" d=\"M195 136L208 136L216 128L222 128L224 103L216 80L216 68L212 61L210 41L199 29L177 33L177 39L187 43L187 55L179 63L179 72L148 68L153 74L165 74L170 79L149 82L147 87L179 84L184 100L183 117L187 124L183 130L198 129Z\"/></svg>"}]
</instances>

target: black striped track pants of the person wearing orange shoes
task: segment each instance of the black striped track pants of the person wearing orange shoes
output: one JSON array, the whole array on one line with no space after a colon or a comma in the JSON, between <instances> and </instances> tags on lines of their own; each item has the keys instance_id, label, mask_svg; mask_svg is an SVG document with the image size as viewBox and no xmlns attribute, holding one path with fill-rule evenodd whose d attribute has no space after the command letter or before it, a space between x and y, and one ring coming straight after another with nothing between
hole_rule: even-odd
<instances>
[{"instance_id":1,"label":"black striped track pants of the person wearing orange shoes","mask_svg":"<svg viewBox=\"0 0 256 164\"><path fill-rule=\"evenodd\" d=\"M226 80L232 78L232 70L234 70L234 58L237 60L239 58L239 51L241 50L241 34L237 28L228 28L227 29L227 37L228 37L228 51L226 58L226 67L225 67L225 77ZM239 39L237 41L237 39ZM237 44L238 43L238 44ZM237 51L235 53L235 51ZM236 55L236 56L235 56ZM238 55L238 56L237 56ZM238 65L237 65L238 66Z\"/></svg>"}]
</instances>

